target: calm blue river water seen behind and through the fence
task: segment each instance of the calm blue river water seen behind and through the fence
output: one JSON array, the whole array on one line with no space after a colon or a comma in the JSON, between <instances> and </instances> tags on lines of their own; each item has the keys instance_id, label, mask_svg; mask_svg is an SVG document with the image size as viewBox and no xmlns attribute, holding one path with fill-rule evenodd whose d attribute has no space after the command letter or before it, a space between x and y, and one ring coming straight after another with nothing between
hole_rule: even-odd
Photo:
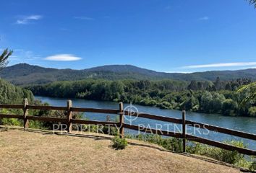
<instances>
[{"instance_id":1,"label":"calm blue river water seen behind and through the fence","mask_svg":"<svg viewBox=\"0 0 256 173\"><path fill-rule=\"evenodd\" d=\"M62 98L52 98L52 97L39 97L36 96L36 99L40 99L42 102L48 102L53 106L66 106L67 99ZM72 99L72 106L74 107L93 107L93 108L105 108L105 109L119 109L119 104L116 102L99 102L85 99ZM124 104L124 107L129 106L129 104ZM162 115L167 117L176 117L182 118L182 112L179 110L161 110L158 107L146 107L140 105L134 105L137 107L139 112L147 112L154 115ZM90 120L106 120L106 114L96 114L86 112L84 115ZM115 119L117 115L110 115L111 119ZM252 117L226 117L218 114L204 114L197 112L187 112L187 119L193 120L195 122L207 123L210 125L217 125L223 128L231 128L234 130L241 130L247 133L256 134L256 118ZM129 119L128 119L129 120ZM126 123L130 123L128 120L125 120ZM158 120L148 120L145 118L137 118L132 121L134 125L145 125L150 126L150 128L161 128L163 130L180 130L179 125L174 125L172 123L164 123ZM158 126L156 126L158 124ZM239 140L243 141L248 148L256 150L256 141L247 140L244 138L238 138L235 136L229 136L222 133L210 132L207 135L202 133L207 133L206 130L196 130L195 128L187 127L188 132L192 133L195 136L202 136L203 138L213 139L215 141L229 141L229 140ZM137 133L133 130L125 130L126 133Z\"/></svg>"}]
</instances>

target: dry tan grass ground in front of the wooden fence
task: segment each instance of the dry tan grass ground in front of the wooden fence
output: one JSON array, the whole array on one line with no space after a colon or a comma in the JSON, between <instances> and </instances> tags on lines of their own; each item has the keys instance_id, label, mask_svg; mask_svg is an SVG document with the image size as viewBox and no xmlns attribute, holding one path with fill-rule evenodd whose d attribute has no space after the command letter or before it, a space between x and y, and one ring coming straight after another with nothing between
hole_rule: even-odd
<instances>
[{"instance_id":1,"label":"dry tan grass ground in front of the wooden fence","mask_svg":"<svg viewBox=\"0 0 256 173\"><path fill-rule=\"evenodd\" d=\"M75 137L37 130L1 131L0 172L239 172L141 141L129 140L133 145L116 151L110 138L89 133Z\"/></svg>"}]
</instances>

